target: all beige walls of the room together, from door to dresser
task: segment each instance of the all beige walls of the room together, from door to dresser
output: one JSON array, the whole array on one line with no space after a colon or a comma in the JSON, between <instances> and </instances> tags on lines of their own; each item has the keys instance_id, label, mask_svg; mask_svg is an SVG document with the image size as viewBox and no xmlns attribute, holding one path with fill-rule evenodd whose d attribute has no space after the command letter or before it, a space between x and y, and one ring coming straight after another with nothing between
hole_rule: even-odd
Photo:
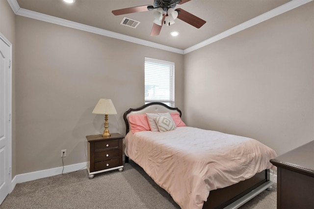
<instances>
[{"instance_id":1,"label":"all beige walls of the room together, from door to dresser","mask_svg":"<svg viewBox=\"0 0 314 209\"><path fill-rule=\"evenodd\" d=\"M124 134L123 112L144 104L145 56L175 62L176 106L189 126L253 137L278 154L313 140L313 9L183 56L15 17L0 0L0 32L13 44L12 177L62 166L61 149L65 165L85 162L85 135L103 130L91 113L100 98L118 111L109 130Z\"/></svg>"}]
</instances>

